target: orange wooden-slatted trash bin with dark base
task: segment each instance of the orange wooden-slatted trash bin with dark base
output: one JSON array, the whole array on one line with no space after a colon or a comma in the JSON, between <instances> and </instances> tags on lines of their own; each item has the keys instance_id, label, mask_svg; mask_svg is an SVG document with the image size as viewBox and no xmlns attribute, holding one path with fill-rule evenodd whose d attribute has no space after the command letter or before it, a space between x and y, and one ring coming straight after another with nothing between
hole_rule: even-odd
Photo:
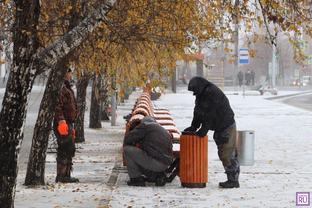
<instances>
[{"instance_id":1,"label":"orange wooden-slatted trash bin with dark base","mask_svg":"<svg viewBox=\"0 0 312 208\"><path fill-rule=\"evenodd\" d=\"M208 136L182 131L180 136L180 180L185 188L205 188L208 182Z\"/></svg>"}]
</instances>

